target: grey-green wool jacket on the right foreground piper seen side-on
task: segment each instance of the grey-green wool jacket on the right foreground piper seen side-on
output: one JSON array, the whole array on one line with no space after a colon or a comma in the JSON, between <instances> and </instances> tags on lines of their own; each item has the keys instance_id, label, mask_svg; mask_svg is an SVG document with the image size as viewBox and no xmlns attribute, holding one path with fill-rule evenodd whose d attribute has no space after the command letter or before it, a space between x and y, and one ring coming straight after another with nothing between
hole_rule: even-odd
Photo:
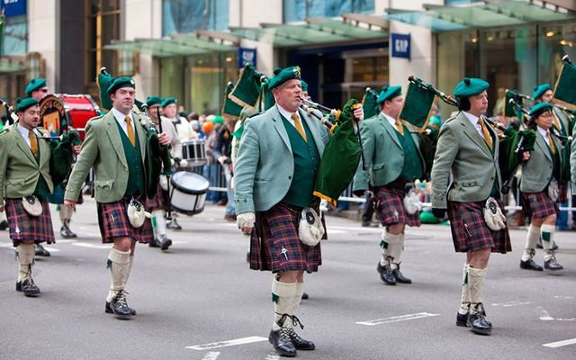
<instances>
[{"instance_id":1,"label":"grey-green wool jacket on the right foreground piper seen side-on","mask_svg":"<svg viewBox=\"0 0 576 360\"><path fill-rule=\"evenodd\" d=\"M446 199L482 202L490 196L495 180L500 188L500 143L496 130L491 126L487 129L493 139L493 154L464 112L440 128L431 174L433 208L446 209Z\"/></svg>"}]
</instances>

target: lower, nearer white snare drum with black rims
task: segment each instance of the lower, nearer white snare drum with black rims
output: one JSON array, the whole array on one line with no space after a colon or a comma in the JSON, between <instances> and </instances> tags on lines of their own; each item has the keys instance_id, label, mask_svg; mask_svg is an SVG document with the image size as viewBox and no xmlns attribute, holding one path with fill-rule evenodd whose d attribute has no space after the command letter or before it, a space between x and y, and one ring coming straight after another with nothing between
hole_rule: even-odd
<instances>
[{"instance_id":1,"label":"lower, nearer white snare drum with black rims","mask_svg":"<svg viewBox=\"0 0 576 360\"><path fill-rule=\"evenodd\" d=\"M204 210L210 183L204 177L187 171L178 171L170 178L172 209L185 215L195 215Z\"/></svg>"}]
</instances>

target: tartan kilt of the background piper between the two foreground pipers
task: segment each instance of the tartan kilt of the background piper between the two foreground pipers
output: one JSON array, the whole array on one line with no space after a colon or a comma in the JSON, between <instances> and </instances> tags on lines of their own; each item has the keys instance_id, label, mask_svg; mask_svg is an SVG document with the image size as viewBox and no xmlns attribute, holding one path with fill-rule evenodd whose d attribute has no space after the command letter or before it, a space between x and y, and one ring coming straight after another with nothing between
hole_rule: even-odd
<instances>
[{"instance_id":1,"label":"tartan kilt of the background piper between the two foreground pipers","mask_svg":"<svg viewBox=\"0 0 576 360\"><path fill-rule=\"evenodd\" d=\"M404 191L392 187L380 186L376 189L374 209L378 212L383 226L406 224L410 227L420 226L420 211L410 215L404 209Z\"/></svg>"}]
</instances>

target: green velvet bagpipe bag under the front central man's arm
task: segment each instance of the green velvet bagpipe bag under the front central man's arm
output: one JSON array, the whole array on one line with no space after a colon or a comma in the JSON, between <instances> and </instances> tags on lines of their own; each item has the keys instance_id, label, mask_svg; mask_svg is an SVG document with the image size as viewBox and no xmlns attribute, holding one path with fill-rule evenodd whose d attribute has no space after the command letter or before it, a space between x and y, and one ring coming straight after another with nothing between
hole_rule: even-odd
<instances>
[{"instance_id":1,"label":"green velvet bagpipe bag under the front central man's arm","mask_svg":"<svg viewBox=\"0 0 576 360\"><path fill-rule=\"evenodd\" d=\"M348 100L340 112L338 126L324 149L316 176L314 195L332 206L337 205L338 197L352 181L360 162L360 143L353 114L356 103L356 99Z\"/></svg>"}]
</instances>

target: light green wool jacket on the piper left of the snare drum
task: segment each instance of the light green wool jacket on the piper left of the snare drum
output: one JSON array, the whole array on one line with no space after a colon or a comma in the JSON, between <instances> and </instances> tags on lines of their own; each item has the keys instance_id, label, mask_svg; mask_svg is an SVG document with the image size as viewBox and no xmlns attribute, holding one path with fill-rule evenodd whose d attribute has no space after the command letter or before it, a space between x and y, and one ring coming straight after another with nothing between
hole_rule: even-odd
<instances>
[{"instance_id":1,"label":"light green wool jacket on the piper left of the snare drum","mask_svg":"<svg viewBox=\"0 0 576 360\"><path fill-rule=\"evenodd\" d=\"M138 143L142 166L146 154L146 133L140 125L148 118L132 112L134 129L138 134ZM76 202L80 187L90 168L94 166L94 198L96 202L118 202L126 194L129 178L129 164L122 147L118 122L112 112L91 119L86 126L86 137L82 151L67 182L64 199Z\"/></svg>"}]
</instances>

